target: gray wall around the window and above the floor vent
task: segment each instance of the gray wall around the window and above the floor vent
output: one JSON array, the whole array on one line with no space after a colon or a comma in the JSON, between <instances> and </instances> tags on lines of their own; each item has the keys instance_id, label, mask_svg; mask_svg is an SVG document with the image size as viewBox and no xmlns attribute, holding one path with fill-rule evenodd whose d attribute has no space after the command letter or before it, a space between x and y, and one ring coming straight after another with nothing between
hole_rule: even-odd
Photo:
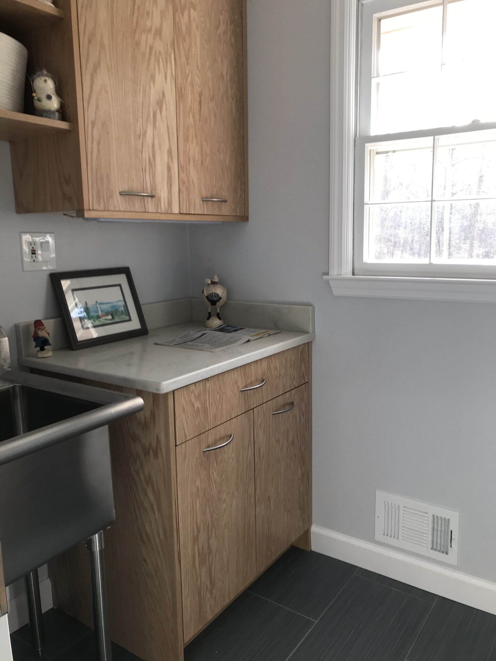
<instances>
[{"instance_id":1,"label":"gray wall around the window and above the floor vent","mask_svg":"<svg viewBox=\"0 0 496 661\"><path fill-rule=\"evenodd\" d=\"M460 512L496 580L496 305L338 299L329 239L329 0L248 1L250 221L190 229L192 294L315 305L313 521L374 541L376 488Z\"/></svg>"}]
</instances>

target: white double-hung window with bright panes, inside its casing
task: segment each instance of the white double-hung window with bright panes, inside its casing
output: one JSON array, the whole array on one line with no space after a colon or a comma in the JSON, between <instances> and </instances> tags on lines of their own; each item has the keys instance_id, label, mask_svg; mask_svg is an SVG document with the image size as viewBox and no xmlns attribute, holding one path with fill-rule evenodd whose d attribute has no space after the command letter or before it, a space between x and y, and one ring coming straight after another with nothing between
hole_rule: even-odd
<instances>
[{"instance_id":1,"label":"white double-hung window with bright panes, inside its casing","mask_svg":"<svg viewBox=\"0 0 496 661\"><path fill-rule=\"evenodd\" d=\"M352 275L496 278L496 0L356 19Z\"/></svg>"}]
</instances>

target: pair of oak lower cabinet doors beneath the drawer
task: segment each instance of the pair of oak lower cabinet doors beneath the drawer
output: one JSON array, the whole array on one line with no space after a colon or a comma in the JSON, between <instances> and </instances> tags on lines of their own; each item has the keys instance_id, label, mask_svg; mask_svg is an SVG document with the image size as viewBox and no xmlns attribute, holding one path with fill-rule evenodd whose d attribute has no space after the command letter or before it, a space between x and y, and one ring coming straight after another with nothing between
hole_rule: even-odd
<instances>
[{"instance_id":1,"label":"pair of oak lower cabinet doors beneath the drawer","mask_svg":"<svg viewBox=\"0 0 496 661\"><path fill-rule=\"evenodd\" d=\"M309 459L307 384L177 447L185 643L310 527Z\"/></svg>"}]
</instances>

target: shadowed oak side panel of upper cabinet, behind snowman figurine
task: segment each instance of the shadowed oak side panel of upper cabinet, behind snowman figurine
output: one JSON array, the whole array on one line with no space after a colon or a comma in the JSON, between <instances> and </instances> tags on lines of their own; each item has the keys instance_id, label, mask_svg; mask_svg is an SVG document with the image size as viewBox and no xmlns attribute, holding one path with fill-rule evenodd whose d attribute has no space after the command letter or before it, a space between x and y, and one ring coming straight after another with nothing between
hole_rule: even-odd
<instances>
[{"instance_id":1,"label":"shadowed oak side panel of upper cabinet, behind snowman figurine","mask_svg":"<svg viewBox=\"0 0 496 661\"><path fill-rule=\"evenodd\" d=\"M38 0L36 0L38 2ZM60 0L63 20L52 20L40 30L36 24L22 32L28 49L28 75L48 69L58 82L63 119L73 131L17 140L11 143L15 208L18 214L64 212L85 206L85 136L81 116L81 67L76 0ZM26 83L25 109L32 112Z\"/></svg>"}]
</instances>

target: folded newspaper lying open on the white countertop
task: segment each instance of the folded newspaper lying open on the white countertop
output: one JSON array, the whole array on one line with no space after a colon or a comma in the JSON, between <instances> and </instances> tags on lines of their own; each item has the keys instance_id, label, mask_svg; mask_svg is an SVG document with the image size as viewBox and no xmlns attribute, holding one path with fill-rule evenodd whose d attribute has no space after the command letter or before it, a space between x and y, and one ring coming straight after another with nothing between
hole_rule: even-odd
<instances>
[{"instance_id":1,"label":"folded newspaper lying open on the white countertop","mask_svg":"<svg viewBox=\"0 0 496 661\"><path fill-rule=\"evenodd\" d=\"M239 326L225 324L217 329L201 329L200 331L186 331L174 340L155 342L159 346L179 346L181 349L196 349L198 351L221 351L231 346L253 342L280 331L257 331L257 329L243 329Z\"/></svg>"}]
</instances>

